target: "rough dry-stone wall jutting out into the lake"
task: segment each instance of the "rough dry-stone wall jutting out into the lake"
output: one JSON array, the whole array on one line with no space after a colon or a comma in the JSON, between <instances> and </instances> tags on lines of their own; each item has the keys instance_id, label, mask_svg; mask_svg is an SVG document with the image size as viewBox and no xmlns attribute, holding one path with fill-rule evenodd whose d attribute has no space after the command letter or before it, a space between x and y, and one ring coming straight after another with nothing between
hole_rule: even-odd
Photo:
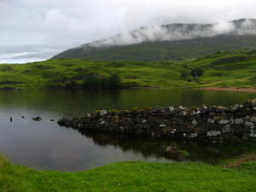
<instances>
[{"instance_id":1,"label":"rough dry-stone wall jutting out into the lake","mask_svg":"<svg viewBox=\"0 0 256 192\"><path fill-rule=\"evenodd\" d=\"M60 119L59 125L79 131L170 137L211 143L256 142L256 100L229 108L141 108L131 111L101 110L86 117Z\"/></svg>"}]
</instances>

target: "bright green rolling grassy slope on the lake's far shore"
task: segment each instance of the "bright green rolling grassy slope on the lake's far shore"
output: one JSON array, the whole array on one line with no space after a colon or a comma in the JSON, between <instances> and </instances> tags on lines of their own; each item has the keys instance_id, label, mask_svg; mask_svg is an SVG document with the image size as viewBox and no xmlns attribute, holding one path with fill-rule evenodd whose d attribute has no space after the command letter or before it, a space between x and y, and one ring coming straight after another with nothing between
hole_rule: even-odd
<instances>
[{"instance_id":1,"label":"bright green rolling grassy slope on the lake's far shore","mask_svg":"<svg viewBox=\"0 0 256 192\"><path fill-rule=\"evenodd\" d=\"M181 78L191 67L203 67L198 79ZM119 73L125 84L157 87L256 87L256 51L230 50L187 61L146 63L141 61L57 60L0 65L0 88L61 85L72 79L82 83L92 73ZM188 79L192 79L189 82ZM24 84L9 84L6 81ZM5 83L4 83L5 82Z\"/></svg>"}]
</instances>

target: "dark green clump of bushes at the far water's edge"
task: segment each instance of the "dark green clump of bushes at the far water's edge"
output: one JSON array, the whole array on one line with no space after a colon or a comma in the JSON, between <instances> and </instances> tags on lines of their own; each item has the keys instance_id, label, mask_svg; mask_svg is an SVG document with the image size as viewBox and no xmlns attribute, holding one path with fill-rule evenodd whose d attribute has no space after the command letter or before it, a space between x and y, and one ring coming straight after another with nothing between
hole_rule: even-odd
<instances>
[{"instance_id":1,"label":"dark green clump of bushes at the far water's edge","mask_svg":"<svg viewBox=\"0 0 256 192\"><path fill-rule=\"evenodd\" d=\"M116 89L121 85L119 74L111 74L108 77L90 75L84 82L85 89Z\"/></svg>"}]
</instances>

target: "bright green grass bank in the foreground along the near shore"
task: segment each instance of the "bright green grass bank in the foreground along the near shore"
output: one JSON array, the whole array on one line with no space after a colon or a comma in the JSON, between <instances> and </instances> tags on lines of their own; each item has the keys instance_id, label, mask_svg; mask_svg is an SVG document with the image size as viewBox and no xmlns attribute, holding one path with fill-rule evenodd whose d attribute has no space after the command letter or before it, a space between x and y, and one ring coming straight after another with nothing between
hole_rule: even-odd
<instances>
[{"instance_id":1,"label":"bright green grass bank in the foreground along the near shore","mask_svg":"<svg viewBox=\"0 0 256 192\"><path fill-rule=\"evenodd\" d=\"M256 191L256 164L122 162L85 172L35 171L0 158L0 191Z\"/></svg>"}]
</instances>

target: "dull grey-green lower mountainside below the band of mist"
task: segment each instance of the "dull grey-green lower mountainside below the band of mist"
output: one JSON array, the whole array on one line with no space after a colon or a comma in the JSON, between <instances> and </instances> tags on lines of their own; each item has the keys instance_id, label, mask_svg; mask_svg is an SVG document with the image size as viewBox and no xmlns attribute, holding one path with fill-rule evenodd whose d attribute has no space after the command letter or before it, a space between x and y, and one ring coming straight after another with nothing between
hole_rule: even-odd
<instances>
[{"instance_id":1,"label":"dull grey-green lower mountainside below the band of mist","mask_svg":"<svg viewBox=\"0 0 256 192\"><path fill-rule=\"evenodd\" d=\"M255 49L256 36L220 35L179 41L151 42L113 46L102 49L67 49L53 59L84 59L91 61L168 61L209 55L219 49Z\"/></svg>"}]
</instances>

